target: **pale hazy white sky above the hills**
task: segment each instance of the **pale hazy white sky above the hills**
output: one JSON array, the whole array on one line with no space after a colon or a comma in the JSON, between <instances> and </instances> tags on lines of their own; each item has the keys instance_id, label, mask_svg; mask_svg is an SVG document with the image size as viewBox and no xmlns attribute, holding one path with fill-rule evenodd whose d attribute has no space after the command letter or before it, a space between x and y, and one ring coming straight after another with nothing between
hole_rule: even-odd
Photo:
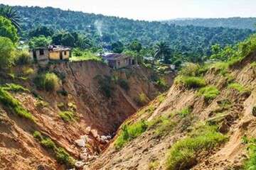
<instances>
[{"instance_id":1,"label":"pale hazy white sky above the hills","mask_svg":"<svg viewBox=\"0 0 256 170\"><path fill-rule=\"evenodd\" d=\"M0 0L0 4L52 6L147 21L256 17L256 0Z\"/></svg>"}]
</instances>

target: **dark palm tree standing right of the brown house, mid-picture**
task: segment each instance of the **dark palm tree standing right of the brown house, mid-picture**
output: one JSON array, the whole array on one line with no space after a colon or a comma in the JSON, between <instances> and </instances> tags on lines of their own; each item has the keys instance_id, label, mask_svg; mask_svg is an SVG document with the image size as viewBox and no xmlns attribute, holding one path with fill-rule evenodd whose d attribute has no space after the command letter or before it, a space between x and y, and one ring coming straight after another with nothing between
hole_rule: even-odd
<instances>
[{"instance_id":1,"label":"dark palm tree standing right of the brown house, mid-picture","mask_svg":"<svg viewBox=\"0 0 256 170\"><path fill-rule=\"evenodd\" d=\"M154 58L164 59L164 62L168 62L169 57L171 57L171 48L167 42L156 43L156 50Z\"/></svg>"}]
</instances>

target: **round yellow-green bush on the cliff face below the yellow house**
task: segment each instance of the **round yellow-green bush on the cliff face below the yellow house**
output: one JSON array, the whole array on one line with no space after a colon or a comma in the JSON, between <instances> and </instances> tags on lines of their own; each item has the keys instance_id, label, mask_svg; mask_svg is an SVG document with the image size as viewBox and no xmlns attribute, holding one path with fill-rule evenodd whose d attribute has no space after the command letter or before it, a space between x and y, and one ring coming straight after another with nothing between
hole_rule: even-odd
<instances>
[{"instance_id":1,"label":"round yellow-green bush on the cliff face below the yellow house","mask_svg":"<svg viewBox=\"0 0 256 170\"><path fill-rule=\"evenodd\" d=\"M60 89L60 79L54 73L38 74L34 83L41 90L57 91Z\"/></svg>"}]
</instances>

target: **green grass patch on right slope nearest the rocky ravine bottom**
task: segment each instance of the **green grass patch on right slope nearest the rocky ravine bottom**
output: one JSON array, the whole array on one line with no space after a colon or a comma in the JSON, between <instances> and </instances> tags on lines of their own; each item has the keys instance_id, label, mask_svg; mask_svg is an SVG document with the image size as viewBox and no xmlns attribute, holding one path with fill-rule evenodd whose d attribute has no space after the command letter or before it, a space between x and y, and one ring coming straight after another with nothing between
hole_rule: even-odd
<instances>
[{"instance_id":1,"label":"green grass patch on right slope nearest the rocky ravine bottom","mask_svg":"<svg viewBox=\"0 0 256 170\"><path fill-rule=\"evenodd\" d=\"M132 125L124 125L119 132L117 140L114 141L114 147L116 149L122 149L127 142L139 137L143 132L146 131L148 125L145 121L139 121Z\"/></svg>"}]
</instances>

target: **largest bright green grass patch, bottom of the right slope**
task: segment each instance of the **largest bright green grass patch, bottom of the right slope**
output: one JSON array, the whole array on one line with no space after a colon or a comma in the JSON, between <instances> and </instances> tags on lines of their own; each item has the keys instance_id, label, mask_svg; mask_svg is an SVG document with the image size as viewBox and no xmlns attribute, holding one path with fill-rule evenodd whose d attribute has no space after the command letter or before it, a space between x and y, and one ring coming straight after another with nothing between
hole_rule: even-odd
<instances>
[{"instance_id":1,"label":"largest bright green grass patch, bottom of the right slope","mask_svg":"<svg viewBox=\"0 0 256 170\"><path fill-rule=\"evenodd\" d=\"M200 151L212 149L225 140L225 135L218 132L217 126L201 125L169 149L166 169L190 169Z\"/></svg>"}]
</instances>

